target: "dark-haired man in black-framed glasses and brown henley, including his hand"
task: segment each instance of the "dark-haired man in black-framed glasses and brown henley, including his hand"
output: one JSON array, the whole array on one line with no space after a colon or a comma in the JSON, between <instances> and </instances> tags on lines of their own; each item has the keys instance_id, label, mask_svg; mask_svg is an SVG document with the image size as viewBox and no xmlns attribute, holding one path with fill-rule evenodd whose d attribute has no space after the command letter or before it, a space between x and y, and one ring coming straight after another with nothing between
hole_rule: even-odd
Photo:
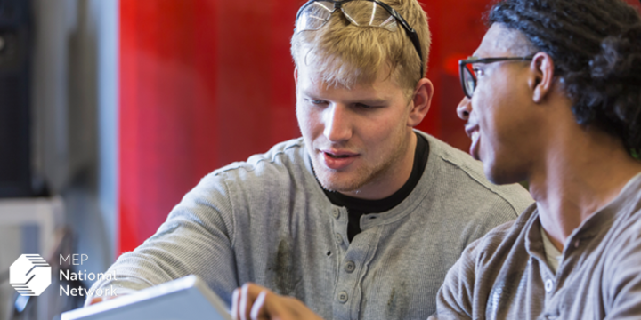
<instances>
[{"instance_id":1,"label":"dark-haired man in black-framed glasses and brown henley, including his hand","mask_svg":"<svg viewBox=\"0 0 641 320\"><path fill-rule=\"evenodd\" d=\"M503 0L489 22L458 116L487 177L528 181L536 204L467 247L432 318L641 318L639 13ZM318 317L253 284L236 298L236 316Z\"/></svg>"}]
</instances>

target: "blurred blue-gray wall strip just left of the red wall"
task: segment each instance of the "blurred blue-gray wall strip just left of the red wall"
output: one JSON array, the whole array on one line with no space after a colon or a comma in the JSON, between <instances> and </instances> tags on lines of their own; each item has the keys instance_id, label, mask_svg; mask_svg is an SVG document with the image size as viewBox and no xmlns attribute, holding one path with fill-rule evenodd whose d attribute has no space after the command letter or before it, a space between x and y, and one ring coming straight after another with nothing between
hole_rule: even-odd
<instances>
[{"instance_id":1,"label":"blurred blue-gray wall strip just left of the red wall","mask_svg":"<svg viewBox=\"0 0 641 320\"><path fill-rule=\"evenodd\" d=\"M115 256L118 1L34 0L34 166L64 198L83 266Z\"/></svg>"}]
</instances>

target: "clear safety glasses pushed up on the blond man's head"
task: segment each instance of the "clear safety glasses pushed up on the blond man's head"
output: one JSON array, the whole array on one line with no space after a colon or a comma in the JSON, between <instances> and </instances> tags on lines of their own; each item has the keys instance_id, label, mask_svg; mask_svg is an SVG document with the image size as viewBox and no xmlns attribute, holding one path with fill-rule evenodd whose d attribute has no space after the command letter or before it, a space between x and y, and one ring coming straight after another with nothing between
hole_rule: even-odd
<instances>
[{"instance_id":1,"label":"clear safety glasses pushed up on the blond man's head","mask_svg":"<svg viewBox=\"0 0 641 320\"><path fill-rule=\"evenodd\" d=\"M384 10L381 10L381 8ZM394 8L378 0L311 0L298 10L294 33L320 29L338 9L343 12L347 20L359 27L377 27L396 32L398 28L397 22L400 23L418 53L418 58L421 61L420 77L423 77L425 72L423 52L421 52L420 41L418 40L416 31L410 27L399 12L396 12Z\"/></svg>"}]
</instances>

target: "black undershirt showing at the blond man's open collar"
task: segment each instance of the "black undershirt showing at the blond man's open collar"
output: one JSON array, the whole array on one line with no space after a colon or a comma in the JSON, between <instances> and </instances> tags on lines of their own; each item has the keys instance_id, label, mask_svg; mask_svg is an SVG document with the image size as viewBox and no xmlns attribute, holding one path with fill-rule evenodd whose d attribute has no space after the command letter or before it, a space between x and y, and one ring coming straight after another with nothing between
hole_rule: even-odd
<instances>
[{"instance_id":1,"label":"black undershirt showing at the blond man's open collar","mask_svg":"<svg viewBox=\"0 0 641 320\"><path fill-rule=\"evenodd\" d=\"M417 148L414 153L414 164L412 165L412 172L410 178L403 184L403 186L394 192L392 196L388 196L379 200L365 200L355 198L353 196L345 196L336 191L328 191L323 188L325 195L329 198L332 204L344 206L347 208L348 222L347 222L347 237L352 242L353 237L361 233L361 216L368 213L386 212L396 205L401 204L407 196L410 196L411 191L418 184L427 164L427 157L429 156L429 144L427 140L420 134L417 135Z\"/></svg>"}]
</instances>

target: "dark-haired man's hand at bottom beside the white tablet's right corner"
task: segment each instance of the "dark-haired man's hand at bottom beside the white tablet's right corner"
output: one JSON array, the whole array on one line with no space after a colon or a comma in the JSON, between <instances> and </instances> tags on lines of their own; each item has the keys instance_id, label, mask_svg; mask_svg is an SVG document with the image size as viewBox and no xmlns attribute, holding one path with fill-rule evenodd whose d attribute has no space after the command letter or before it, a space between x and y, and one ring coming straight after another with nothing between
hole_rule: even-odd
<instances>
[{"instance_id":1,"label":"dark-haired man's hand at bottom beside the white tablet's right corner","mask_svg":"<svg viewBox=\"0 0 641 320\"><path fill-rule=\"evenodd\" d=\"M231 316L237 320L322 320L300 300L280 296L257 284L234 290Z\"/></svg>"}]
</instances>

